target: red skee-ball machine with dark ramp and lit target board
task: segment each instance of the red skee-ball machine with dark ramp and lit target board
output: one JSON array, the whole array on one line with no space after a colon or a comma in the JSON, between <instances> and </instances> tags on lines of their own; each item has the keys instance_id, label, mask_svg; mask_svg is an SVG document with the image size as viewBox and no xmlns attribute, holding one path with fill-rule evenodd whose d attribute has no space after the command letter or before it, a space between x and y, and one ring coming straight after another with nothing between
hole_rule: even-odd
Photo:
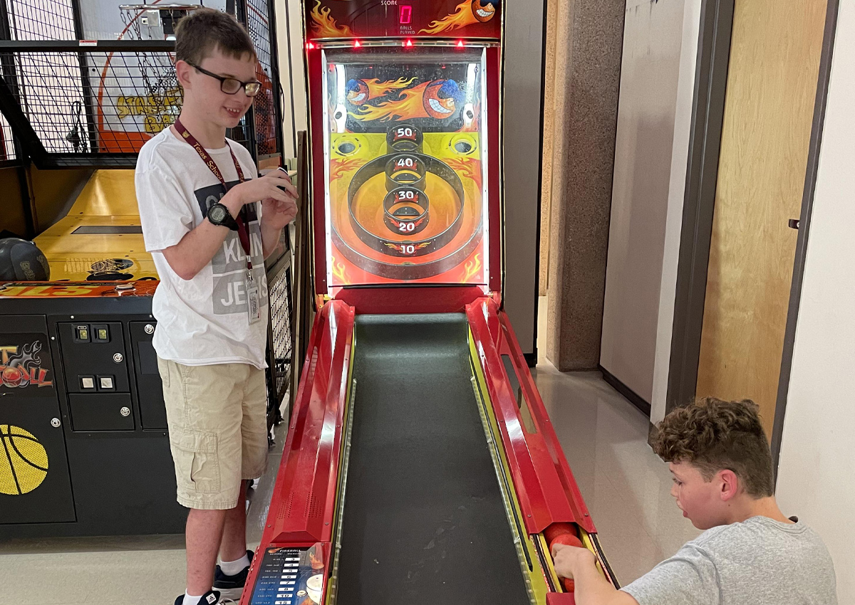
<instances>
[{"instance_id":1,"label":"red skee-ball machine with dark ramp and lit target board","mask_svg":"<svg viewBox=\"0 0 855 605\"><path fill-rule=\"evenodd\" d=\"M500 6L304 8L319 310L242 605L572 603L556 540L616 585L501 309Z\"/></svg>"}]
</instances>

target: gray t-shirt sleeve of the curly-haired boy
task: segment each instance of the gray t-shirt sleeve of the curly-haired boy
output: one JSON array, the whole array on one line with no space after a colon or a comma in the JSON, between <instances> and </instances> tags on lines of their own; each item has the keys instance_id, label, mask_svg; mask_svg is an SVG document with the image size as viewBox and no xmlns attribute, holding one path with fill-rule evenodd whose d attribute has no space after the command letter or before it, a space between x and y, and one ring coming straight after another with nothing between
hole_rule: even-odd
<instances>
[{"instance_id":1,"label":"gray t-shirt sleeve of the curly-haired boy","mask_svg":"<svg viewBox=\"0 0 855 605\"><path fill-rule=\"evenodd\" d=\"M624 586L639 605L715 605L718 573L710 558L692 543Z\"/></svg>"}]
</instances>

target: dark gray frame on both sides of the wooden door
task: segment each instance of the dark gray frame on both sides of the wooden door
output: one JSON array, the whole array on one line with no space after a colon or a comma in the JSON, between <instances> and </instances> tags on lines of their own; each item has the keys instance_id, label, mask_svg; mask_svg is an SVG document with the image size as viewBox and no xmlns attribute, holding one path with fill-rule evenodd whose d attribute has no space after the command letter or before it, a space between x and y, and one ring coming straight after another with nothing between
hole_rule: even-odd
<instances>
[{"instance_id":1,"label":"dark gray frame on both sides of the wooden door","mask_svg":"<svg viewBox=\"0 0 855 605\"><path fill-rule=\"evenodd\" d=\"M704 322L707 269L710 261L712 219L716 202L718 161L722 143L724 101L727 92L730 41L735 0L704 0L701 7L698 63L695 73L692 128L689 138L686 191L671 338L665 413L691 401L698 383L701 333ZM805 254L811 224L817 168L823 136L828 79L834 50L834 31L840 0L827 0L823 50L819 63L805 187L799 216L799 233L793 261L787 326L781 355L781 373L772 427L772 463L775 479L781 453L783 421L787 408L793 344L805 272Z\"/></svg>"}]
</instances>

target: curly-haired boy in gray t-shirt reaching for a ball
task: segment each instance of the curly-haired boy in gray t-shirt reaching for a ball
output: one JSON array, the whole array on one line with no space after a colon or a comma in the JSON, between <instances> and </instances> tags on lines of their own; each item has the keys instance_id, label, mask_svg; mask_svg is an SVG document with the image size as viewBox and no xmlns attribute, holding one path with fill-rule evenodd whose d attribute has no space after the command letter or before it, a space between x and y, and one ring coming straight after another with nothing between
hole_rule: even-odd
<instances>
[{"instance_id":1,"label":"curly-haired boy in gray t-shirt reaching for a ball","mask_svg":"<svg viewBox=\"0 0 855 605\"><path fill-rule=\"evenodd\" d=\"M556 572L575 579L577 605L837 605L822 538L787 519L772 495L756 404L707 397L675 409L653 449L669 462L683 516L706 531L621 590L590 551L556 545Z\"/></svg>"}]
</instances>

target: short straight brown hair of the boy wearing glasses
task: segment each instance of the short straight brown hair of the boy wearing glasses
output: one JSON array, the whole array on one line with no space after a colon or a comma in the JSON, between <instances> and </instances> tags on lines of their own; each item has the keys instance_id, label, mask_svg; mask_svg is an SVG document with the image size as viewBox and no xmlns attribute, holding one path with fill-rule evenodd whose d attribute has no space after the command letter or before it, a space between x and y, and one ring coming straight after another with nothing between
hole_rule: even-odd
<instances>
[{"instance_id":1,"label":"short straight brown hair of the boy wearing glasses","mask_svg":"<svg viewBox=\"0 0 855 605\"><path fill-rule=\"evenodd\" d=\"M250 34L232 15L215 9L196 9L181 18L175 26L175 61L194 65L214 54L241 59L256 58L256 47Z\"/></svg>"}]
</instances>

